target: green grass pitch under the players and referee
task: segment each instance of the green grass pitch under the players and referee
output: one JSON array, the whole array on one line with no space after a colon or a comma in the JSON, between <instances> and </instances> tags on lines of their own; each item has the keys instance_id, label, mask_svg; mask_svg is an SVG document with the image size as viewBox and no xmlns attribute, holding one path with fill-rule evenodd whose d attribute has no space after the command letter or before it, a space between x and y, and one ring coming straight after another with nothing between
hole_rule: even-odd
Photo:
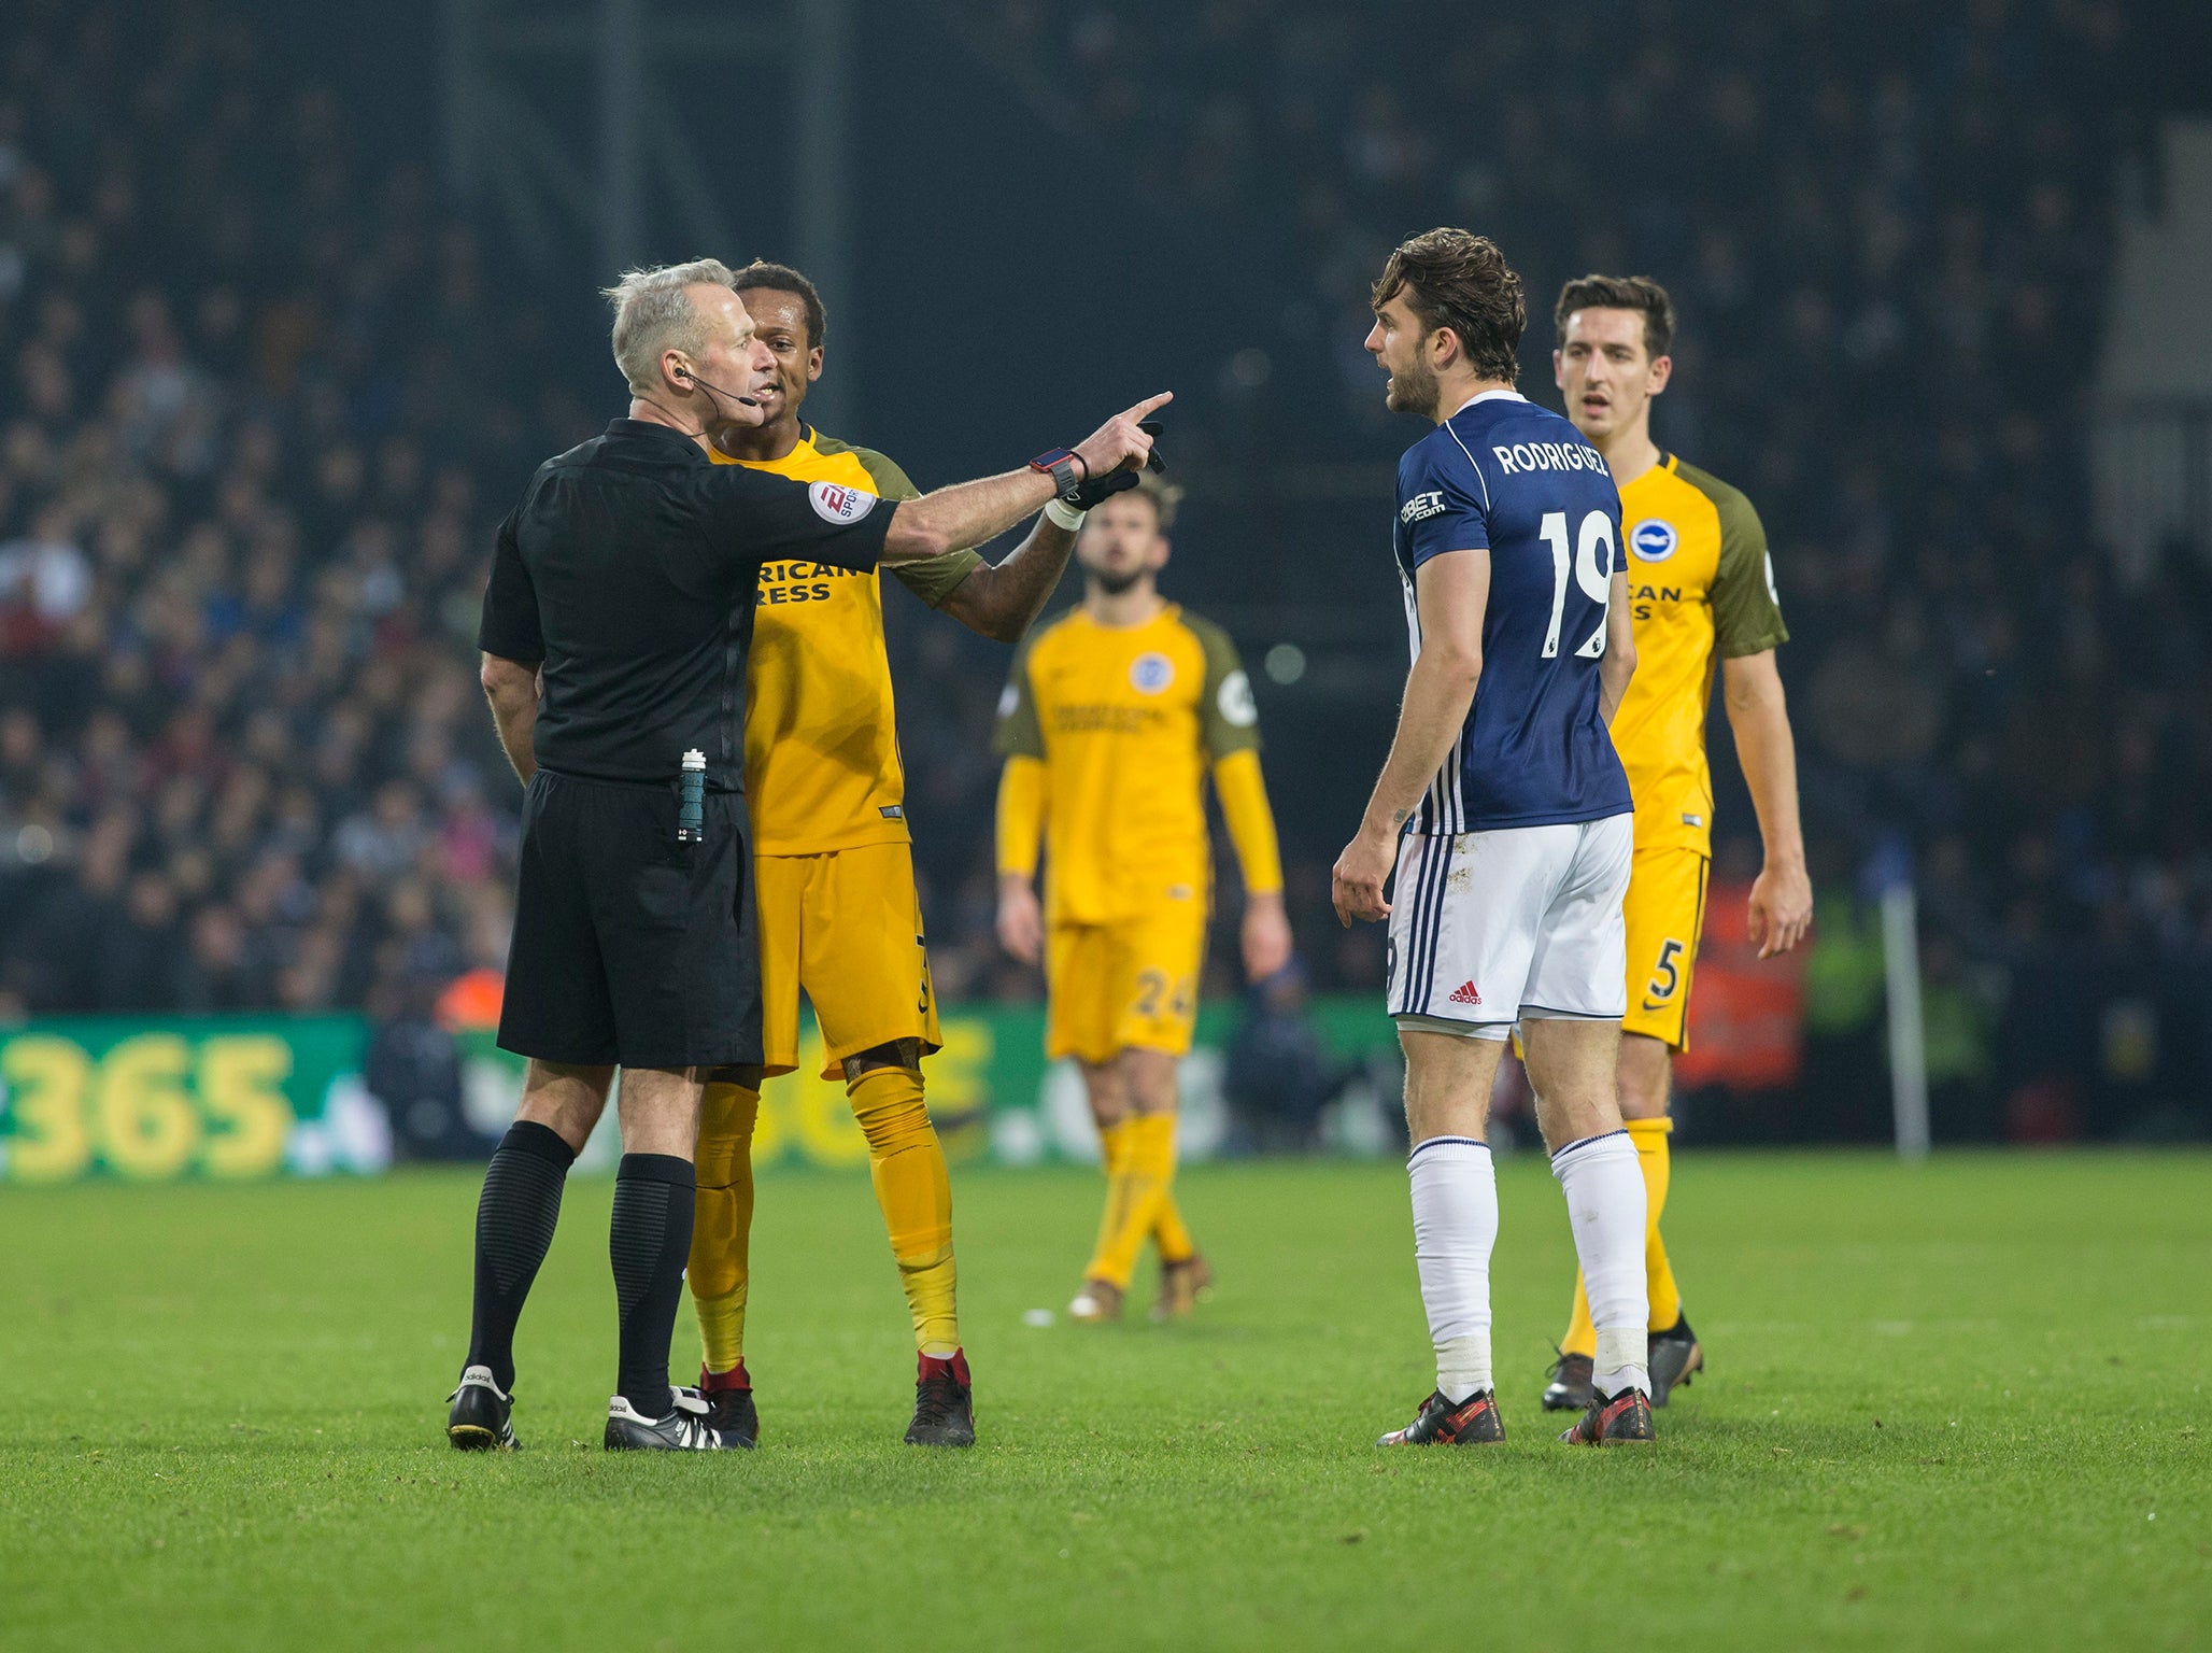
<instances>
[{"instance_id":1,"label":"green grass pitch under the players and referee","mask_svg":"<svg viewBox=\"0 0 2212 1653\"><path fill-rule=\"evenodd\" d=\"M597 1449L608 1182L568 1188L498 1456L442 1438L471 1175L11 1191L0 1646L2201 1646L2208 1171L1681 1155L1712 1372L1604 1454L1535 1405L1571 1268L1537 1155L1500 1173L1486 1452L1369 1447L1429 1387L1396 1166L1188 1173L1219 1297L1104 1330L1022 1325L1095 1177L962 1173L971 1454L898 1441L865 1179L763 1179L765 1443L726 1458Z\"/></svg>"}]
</instances>

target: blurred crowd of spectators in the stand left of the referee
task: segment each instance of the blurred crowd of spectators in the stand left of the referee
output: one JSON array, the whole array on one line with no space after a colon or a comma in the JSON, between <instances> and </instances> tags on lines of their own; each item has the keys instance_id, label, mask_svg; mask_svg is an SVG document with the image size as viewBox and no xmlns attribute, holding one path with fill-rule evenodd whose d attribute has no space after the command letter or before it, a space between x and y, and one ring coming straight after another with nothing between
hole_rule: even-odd
<instances>
[{"instance_id":1,"label":"blurred crowd of spectators in the stand left of the referee","mask_svg":"<svg viewBox=\"0 0 2212 1653\"><path fill-rule=\"evenodd\" d=\"M436 996L509 925L482 478L588 418L243 20L49 22L0 62L0 1009Z\"/></svg>"}]
</instances>

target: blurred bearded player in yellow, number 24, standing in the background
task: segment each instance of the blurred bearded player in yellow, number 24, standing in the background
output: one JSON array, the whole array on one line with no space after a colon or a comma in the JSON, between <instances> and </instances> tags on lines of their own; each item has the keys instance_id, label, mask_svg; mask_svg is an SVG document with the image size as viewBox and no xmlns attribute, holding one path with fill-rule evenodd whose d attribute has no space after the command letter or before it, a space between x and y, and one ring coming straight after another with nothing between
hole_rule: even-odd
<instances>
[{"instance_id":1,"label":"blurred bearded player in yellow, number 24, standing in the background","mask_svg":"<svg viewBox=\"0 0 2212 1653\"><path fill-rule=\"evenodd\" d=\"M1237 646L1159 595L1175 491L1146 476L1091 511L1084 602L1037 631L1000 701L998 934L1044 960L1046 1056L1082 1064L1106 1215L1068 1303L1121 1317L1137 1252L1159 1246L1155 1319L1210 1283L1175 1204L1175 1075L1199 1013L1212 909L1206 779L1243 872L1243 963L1290 963L1283 867L1259 768L1259 713ZM1037 841L1046 845L1037 905Z\"/></svg>"}]
</instances>

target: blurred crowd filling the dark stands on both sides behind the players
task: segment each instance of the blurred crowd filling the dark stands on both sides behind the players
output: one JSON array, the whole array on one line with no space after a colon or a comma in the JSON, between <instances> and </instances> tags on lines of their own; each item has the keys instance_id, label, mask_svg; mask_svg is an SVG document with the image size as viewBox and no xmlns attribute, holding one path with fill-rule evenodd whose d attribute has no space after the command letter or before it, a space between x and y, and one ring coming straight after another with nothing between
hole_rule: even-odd
<instances>
[{"instance_id":1,"label":"blurred crowd filling the dark stands on both sides behind the players","mask_svg":"<svg viewBox=\"0 0 2212 1653\"><path fill-rule=\"evenodd\" d=\"M2088 522L2148 49L2119 0L1442 38L1318 0L945 11L1248 279L1254 339L1190 414L1230 456L1402 447L1358 341L1411 230L1482 228L1528 277L1537 396L1562 279L1666 281L1659 436L1774 538L1825 885L1902 843L1938 976L1997 983L1993 1022L2055 960L2212 958L2205 562L2124 586ZM427 179L365 164L237 18L181 11L153 53L49 18L0 64L0 1007L358 1007L495 967L484 544L611 381L593 414L533 378L544 316L489 303ZM940 991L1022 991L989 943L998 684L949 626L894 642L942 684L902 706ZM1316 985L1365 985L1345 958Z\"/></svg>"}]
</instances>

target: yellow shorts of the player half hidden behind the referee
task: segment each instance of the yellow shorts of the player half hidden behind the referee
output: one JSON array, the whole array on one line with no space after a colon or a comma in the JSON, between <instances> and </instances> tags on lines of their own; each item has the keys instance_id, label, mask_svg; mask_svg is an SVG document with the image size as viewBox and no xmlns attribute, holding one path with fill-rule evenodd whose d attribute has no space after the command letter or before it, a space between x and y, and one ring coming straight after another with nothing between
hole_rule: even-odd
<instances>
[{"instance_id":1,"label":"yellow shorts of the player half hidden behind the referee","mask_svg":"<svg viewBox=\"0 0 2212 1653\"><path fill-rule=\"evenodd\" d=\"M827 854L752 861L761 925L761 1051L770 1073L799 1067L799 991L823 1031L823 1078L845 1058L914 1038L938 1038L914 850L863 843Z\"/></svg>"}]
</instances>

